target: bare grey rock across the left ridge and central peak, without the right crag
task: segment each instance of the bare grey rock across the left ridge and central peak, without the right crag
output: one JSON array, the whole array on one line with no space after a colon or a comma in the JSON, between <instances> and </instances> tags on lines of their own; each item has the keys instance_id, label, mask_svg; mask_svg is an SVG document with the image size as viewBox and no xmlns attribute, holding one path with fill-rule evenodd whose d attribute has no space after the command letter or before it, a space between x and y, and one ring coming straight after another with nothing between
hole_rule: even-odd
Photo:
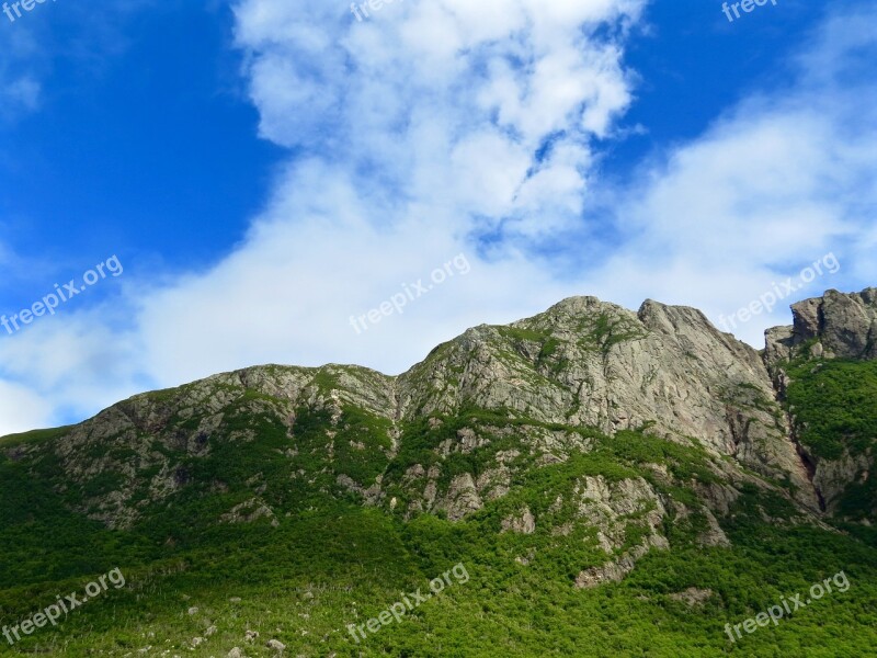
<instances>
[{"instance_id":1,"label":"bare grey rock across the left ridge and central peak, without the right crag","mask_svg":"<svg viewBox=\"0 0 877 658\"><path fill-rule=\"evenodd\" d=\"M255 395L242 397L248 390ZM155 503L191 479L169 453L209 455L212 436L220 431L240 442L255 440L255 430L247 426L228 429L231 409L280 419L291 460L300 451L293 428L303 408L324 412L332 426L318 451L327 465L342 447L373 457L361 440L340 443L341 418L349 407L389 423L387 447L379 449L387 461L398 449L398 423L428 417L431 427L441 427L433 417L464 407L510 409L544 423L596 427L610 433L651 422L654 432L696 436L717 455L788 478L797 485L801 502L816 507L759 354L717 331L699 311L654 302L646 302L635 314L594 297L567 299L511 327L471 329L396 378L333 365L265 366L216 375L121 402L72 429L57 450L73 479L86 483L101 473L119 474L121 486L90 501L89 514L124 527L138 517L129 501L139 473L155 473L146 501ZM520 443L540 455L540 464L589 450L578 434L531 426L498 428L492 438L463 428L436 452L443 460L469 454L509 432L516 432ZM103 456L81 458L98 444L105 450ZM122 453L126 458L114 456ZM409 510L445 510L454 520L479 510L485 500L508 492L515 460L497 455L483 473L459 475L444 485L440 464L425 477L412 474L407 486L420 487L420 492ZM378 480L357 481L343 470L335 479L372 504L383 499ZM223 486L216 483L217 489Z\"/></svg>"}]
</instances>

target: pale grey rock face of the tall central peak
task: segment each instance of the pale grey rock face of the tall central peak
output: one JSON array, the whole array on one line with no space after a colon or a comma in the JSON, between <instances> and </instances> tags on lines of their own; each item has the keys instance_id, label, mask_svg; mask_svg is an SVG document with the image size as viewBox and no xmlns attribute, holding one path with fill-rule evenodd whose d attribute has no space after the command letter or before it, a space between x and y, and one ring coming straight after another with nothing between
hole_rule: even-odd
<instances>
[{"instance_id":1,"label":"pale grey rock face of the tall central peak","mask_svg":"<svg viewBox=\"0 0 877 658\"><path fill-rule=\"evenodd\" d=\"M470 329L402 375L399 392L408 418L471 405L608 433L654 423L788 478L818 509L761 355L693 308L649 300L634 314L573 297L510 327Z\"/></svg>"}]
</instances>

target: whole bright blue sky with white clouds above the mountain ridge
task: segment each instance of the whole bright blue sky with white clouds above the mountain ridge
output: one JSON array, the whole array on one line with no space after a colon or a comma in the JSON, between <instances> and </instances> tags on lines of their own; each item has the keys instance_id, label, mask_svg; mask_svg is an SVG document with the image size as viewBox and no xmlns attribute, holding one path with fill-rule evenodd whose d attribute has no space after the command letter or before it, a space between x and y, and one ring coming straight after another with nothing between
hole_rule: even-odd
<instances>
[{"instance_id":1,"label":"whole bright blue sky with white clouds above the mountain ridge","mask_svg":"<svg viewBox=\"0 0 877 658\"><path fill-rule=\"evenodd\" d=\"M574 294L718 324L794 277L738 324L758 347L790 302L877 285L869 3L548 4L0 14L0 314L124 264L0 328L0 434L257 363L398 373Z\"/></svg>"}]
</instances>

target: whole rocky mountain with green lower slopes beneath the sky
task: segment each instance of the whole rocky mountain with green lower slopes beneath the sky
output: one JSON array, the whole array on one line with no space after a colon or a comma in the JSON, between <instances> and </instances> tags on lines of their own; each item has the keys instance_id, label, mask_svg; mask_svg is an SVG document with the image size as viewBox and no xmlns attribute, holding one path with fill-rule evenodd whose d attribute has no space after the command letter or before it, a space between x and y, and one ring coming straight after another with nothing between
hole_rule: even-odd
<instances>
[{"instance_id":1,"label":"whole rocky mountain with green lower slopes beneath the sky","mask_svg":"<svg viewBox=\"0 0 877 658\"><path fill-rule=\"evenodd\" d=\"M398 377L251 367L0 439L0 622L125 576L0 653L872 655L877 288L791 310L756 351L573 297Z\"/></svg>"}]
</instances>

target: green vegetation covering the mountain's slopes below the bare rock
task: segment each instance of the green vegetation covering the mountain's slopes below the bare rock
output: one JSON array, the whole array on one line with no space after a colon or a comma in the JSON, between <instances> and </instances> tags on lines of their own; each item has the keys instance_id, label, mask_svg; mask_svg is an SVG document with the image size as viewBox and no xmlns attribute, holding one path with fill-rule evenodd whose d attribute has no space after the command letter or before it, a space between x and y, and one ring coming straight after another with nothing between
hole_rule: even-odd
<instances>
[{"instance_id":1,"label":"green vegetation covering the mountain's slopes below the bare rock","mask_svg":"<svg viewBox=\"0 0 877 658\"><path fill-rule=\"evenodd\" d=\"M594 331L601 349L631 339L608 319ZM535 340L527 330L506 338ZM562 350L550 336L535 342L540 362ZM812 374L822 372L825 366ZM856 385L866 381L858 372ZM842 376L846 384L848 376ZM797 393L822 389L800 373L799 383ZM316 388L337 385L327 375ZM234 401L219 418L196 407L160 436L123 432L78 446L84 469L71 469L69 455L55 450L67 429L0 445L0 626L31 617L113 568L127 579L126 588L89 601L57 628L41 628L14 647L0 638L0 655L124 657L150 647L143 655L206 658L237 646L259 657L275 655L265 647L271 638L288 656L338 658L866 656L877 646L873 529L844 526L850 534L841 534L796 525L800 512L782 490L738 485L741 495L722 519L731 547L702 547L697 538L709 525L697 491L725 477L696 440L654 436L652 423L607 436L475 407L394 427L340 401L296 407L242 387L221 393ZM758 392L736 395L761 404ZM796 399L796 409L816 404ZM822 413L833 427L831 410ZM810 428L812 421L801 422ZM848 432L838 436L850 440ZM553 460L543 458L551 451L537 447L545 441ZM31 452L26 458L9 450L16 443ZM504 496L486 496L481 509L456 523L411 512L426 481L411 475L413 466L436 468L441 496L458 475L478 479L496 469L500 454L510 478ZM362 489L380 478L386 498L364 504L341 476ZM620 540L607 555L596 529L581 521L577 491L586 477L610 486L633 478L645 487L645 480L667 509L659 530L671 549L650 551L620 582L577 589L582 570L642 544L656 507L622 514ZM110 530L96 518L112 517L113 497L123 494L137 515ZM851 488L845 504L874 495L865 483ZM504 521L524 508L535 531L503 532ZM400 592L425 590L458 563L468 582L353 642L348 624L376 616ZM726 623L840 570L848 591L737 644L725 634ZM710 595L690 606L675 597L687 588ZM244 642L248 629L260 633L258 642ZM196 637L204 638L197 647Z\"/></svg>"}]
</instances>

